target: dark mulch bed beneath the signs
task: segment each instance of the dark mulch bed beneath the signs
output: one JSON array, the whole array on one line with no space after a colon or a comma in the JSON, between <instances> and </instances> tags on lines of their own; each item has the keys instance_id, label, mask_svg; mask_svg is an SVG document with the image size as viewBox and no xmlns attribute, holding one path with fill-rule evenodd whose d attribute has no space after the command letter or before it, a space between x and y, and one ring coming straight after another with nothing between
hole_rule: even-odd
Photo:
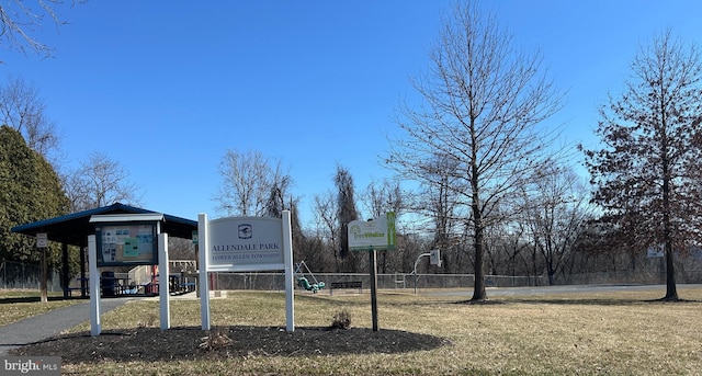
<instances>
[{"instance_id":1,"label":"dark mulch bed beneath the signs","mask_svg":"<svg viewBox=\"0 0 702 376\"><path fill-rule=\"evenodd\" d=\"M236 356L314 356L405 353L431 350L449 341L429 334L366 328L279 327L135 328L66 334L12 350L13 355L61 356L64 363L199 360Z\"/></svg>"}]
</instances>

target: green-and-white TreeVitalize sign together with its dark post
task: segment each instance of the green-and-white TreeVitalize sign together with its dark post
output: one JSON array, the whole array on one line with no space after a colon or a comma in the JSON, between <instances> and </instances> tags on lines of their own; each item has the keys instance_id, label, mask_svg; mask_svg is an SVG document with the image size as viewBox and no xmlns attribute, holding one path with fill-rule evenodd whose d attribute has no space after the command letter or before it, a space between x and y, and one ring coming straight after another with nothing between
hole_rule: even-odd
<instances>
[{"instance_id":1,"label":"green-and-white TreeVitalize sign together with its dark post","mask_svg":"<svg viewBox=\"0 0 702 376\"><path fill-rule=\"evenodd\" d=\"M392 250L396 244L395 213L389 212L372 220L352 220L348 226L349 249L370 251L371 266L371 316L373 331L377 331L377 252Z\"/></svg>"}]
</instances>

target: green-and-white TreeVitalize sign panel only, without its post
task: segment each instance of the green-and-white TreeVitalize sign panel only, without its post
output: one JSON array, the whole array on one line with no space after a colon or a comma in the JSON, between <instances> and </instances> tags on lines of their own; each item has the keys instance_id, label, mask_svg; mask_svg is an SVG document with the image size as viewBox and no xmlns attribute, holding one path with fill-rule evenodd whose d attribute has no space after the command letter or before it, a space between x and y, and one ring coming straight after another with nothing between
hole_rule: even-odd
<instances>
[{"instance_id":1,"label":"green-and-white TreeVitalize sign panel only, without its post","mask_svg":"<svg viewBox=\"0 0 702 376\"><path fill-rule=\"evenodd\" d=\"M396 238L394 212L349 224L349 249L352 251L393 250Z\"/></svg>"}]
</instances>

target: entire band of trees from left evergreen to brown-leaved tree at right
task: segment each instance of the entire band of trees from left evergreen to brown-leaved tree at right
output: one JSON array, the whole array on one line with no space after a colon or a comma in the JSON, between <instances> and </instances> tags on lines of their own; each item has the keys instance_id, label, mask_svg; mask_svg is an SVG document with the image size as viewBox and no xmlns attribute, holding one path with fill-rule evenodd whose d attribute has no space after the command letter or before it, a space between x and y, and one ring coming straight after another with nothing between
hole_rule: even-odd
<instances>
[{"instance_id":1,"label":"entire band of trees from left evergreen to brown-leaved tree at right","mask_svg":"<svg viewBox=\"0 0 702 376\"><path fill-rule=\"evenodd\" d=\"M0 12L1 15L1 12ZM544 276L548 284L599 272L676 275L702 259L702 62L697 45L670 31L642 46L621 93L599 110L601 146L585 156L590 184L561 129L545 121L564 96L537 53L477 2L458 3L412 79L416 103L397 111L399 135L382 159L394 179L354 185L341 164L333 189L314 196L299 220L294 179L281 160L228 150L214 194L225 216L293 214L294 258L313 272L367 272L348 249L351 220L395 212L398 244L378 258L381 273L408 273L420 253L441 250L443 265L422 273L475 274L472 300L487 298L486 275ZM7 21L5 21L7 22ZM5 24L7 26L7 24ZM38 91L18 78L0 86L0 257L36 262L16 225L121 201L139 187L117 161L95 152L75 170L60 166L59 134ZM189 254L179 243L179 252ZM647 258L648 253L663 258ZM58 265L53 253L49 261ZM663 260L663 262L659 262ZM71 262L72 270L76 263Z\"/></svg>"}]
</instances>

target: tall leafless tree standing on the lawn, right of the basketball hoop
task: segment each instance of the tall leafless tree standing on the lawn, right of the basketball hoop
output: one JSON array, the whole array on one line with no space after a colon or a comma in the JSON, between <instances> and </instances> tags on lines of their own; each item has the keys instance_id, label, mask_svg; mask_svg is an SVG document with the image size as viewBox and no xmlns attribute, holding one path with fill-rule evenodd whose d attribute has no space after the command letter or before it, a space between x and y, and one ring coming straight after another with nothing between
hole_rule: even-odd
<instances>
[{"instance_id":1,"label":"tall leafless tree standing on the lawn, right of the basketball hoop","mask_svg":"<svg viewBox=\"0 0 702 376\"><path fill-rule=\"evenodd\" d=\"M509 215L496 210L501 200L543 166L553 137L536 126L559 109L562 94L541 73L541 55L516 50L495 16L474 2L456 5L430 58L429 73L412 81L423 102L400 107L406 138L395 140L388 161L421 180L441 175L435 156L456 162L449 173L465 182L456 193L471 212L472 299L482 300L485 229Z\"/></svg>"}]
</instances>

